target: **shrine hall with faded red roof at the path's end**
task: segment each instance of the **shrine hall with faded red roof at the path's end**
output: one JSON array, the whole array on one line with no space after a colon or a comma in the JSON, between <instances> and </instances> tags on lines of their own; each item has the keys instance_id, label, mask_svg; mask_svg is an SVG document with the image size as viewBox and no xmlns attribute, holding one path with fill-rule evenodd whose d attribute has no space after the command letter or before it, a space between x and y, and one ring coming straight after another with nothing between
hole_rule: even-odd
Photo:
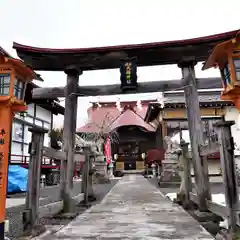
<instances>
[{"instance_id":1,"label":"shrine hall with faded red roof at the path's end","mask_svg":"<svg viewBox=\"0 0 240 240\"><path fill-rule=\"evenodd\" d=\"M144 121L150 101L99 102L88 109L88 123L78 133L111 133L116 170L143 171L144 154L156 146L156 128ZM143 154L144 153L144 154Z\"/></svg>"}]
</instances>

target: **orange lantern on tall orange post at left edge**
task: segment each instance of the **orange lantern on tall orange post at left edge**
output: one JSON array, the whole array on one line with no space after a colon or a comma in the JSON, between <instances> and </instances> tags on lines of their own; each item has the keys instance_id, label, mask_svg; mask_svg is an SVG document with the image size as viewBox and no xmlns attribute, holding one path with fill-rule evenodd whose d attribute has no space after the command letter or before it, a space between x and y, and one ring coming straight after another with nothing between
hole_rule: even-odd
<instances>
[{"instance_id":1,"label":"orange lantern on tall orange post at left edge","mask_svg":"<svg viewBox=\"0 0 240 240\"><path fill-rule=\"evenodd\" d=\"M0 55L0 236L4 236L10 135L14 113L27 110L26 84L35 73L18 59ZM2 239L2 238L1 238Z\"/></svg>"}]
</instances>

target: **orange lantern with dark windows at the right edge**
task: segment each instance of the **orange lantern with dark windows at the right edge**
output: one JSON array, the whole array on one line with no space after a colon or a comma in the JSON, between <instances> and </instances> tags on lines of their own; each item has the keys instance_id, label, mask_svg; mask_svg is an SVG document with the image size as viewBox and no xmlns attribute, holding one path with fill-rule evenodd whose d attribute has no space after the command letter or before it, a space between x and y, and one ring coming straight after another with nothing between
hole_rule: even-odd
<instances>
[{"instance_id":1,"label":"orange lantern with dark windows at the right edge","mask_svg":"<svg viewBox=\"0 0 240 240\"><path fill-rule=\"evenodd\" d=\"M221 99L233 101L238 109L240 109L239 33L235 38L218 44L202 68L203 70L211 67L219 68L223 85Z\"/></svg>"}]
</instances>

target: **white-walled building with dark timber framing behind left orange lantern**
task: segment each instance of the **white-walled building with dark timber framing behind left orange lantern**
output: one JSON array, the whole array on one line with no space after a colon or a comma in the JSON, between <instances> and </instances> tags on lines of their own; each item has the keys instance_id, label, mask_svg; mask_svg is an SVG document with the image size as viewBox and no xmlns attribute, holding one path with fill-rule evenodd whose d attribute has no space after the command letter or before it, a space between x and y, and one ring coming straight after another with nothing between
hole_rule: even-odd
<instances>
[{"instance_id":1,"label":"white-walled building with dark timber framing behind left orange lantern","mask_svg":"<svg viewBox=\"0 0 240 240\"><path fill-rule=\"evenodd\" d=\"M32 134L29 128L38 126L51 131L53 128L53 115L64 114L64 108L56 100L32 100L29 99L29 91L36 88L33 83L28 84L26 101L28 110L25 113L17 113L12 125L12 143L10 162L12 164L28 162L28 146ZM49 146L48 133L44 136L44 146Z\"/></svg>"}]
</instances>

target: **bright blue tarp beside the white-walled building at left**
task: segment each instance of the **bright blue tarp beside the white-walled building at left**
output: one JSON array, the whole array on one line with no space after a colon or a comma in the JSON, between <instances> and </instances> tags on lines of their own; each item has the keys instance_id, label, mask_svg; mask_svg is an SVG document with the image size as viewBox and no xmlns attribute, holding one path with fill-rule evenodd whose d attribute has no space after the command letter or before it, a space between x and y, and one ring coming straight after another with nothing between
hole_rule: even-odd
<instances>
[{"instance_id":1,"label":"bright blue tarp beside the white-walled building at left","mask_svg":"<svg viewBox=\"0 0 240 240\"><path fill-rule=\"evenodd\" d=\"M26 192L28 181L28 170L10 165L8 168L8 193Z\"/></svg>"}]
</instances>

